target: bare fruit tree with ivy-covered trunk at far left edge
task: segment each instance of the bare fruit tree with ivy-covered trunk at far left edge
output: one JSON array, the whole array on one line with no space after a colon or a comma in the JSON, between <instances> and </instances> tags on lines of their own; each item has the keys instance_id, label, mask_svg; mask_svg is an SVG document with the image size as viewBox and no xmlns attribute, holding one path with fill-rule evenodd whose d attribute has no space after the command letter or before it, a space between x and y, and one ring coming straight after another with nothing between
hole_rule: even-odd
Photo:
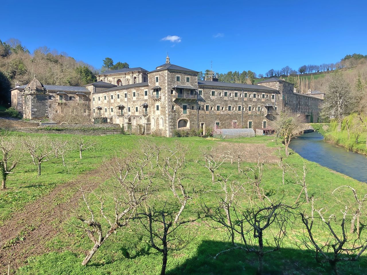
<instances>
[{"instance_id":1,"label":"bare fruit tree with ivy-covered trunk at far left edge","mask_svg":"<svg viewBox=\"0 0 367 275\"><path fill-rule=\"evenodd\" d=\"M20 137L1 133L0 135L0 172L2 189L6 189L9 174L14 174L17 166L24 160L23 142Z\"/></svg>"}]
</instances>

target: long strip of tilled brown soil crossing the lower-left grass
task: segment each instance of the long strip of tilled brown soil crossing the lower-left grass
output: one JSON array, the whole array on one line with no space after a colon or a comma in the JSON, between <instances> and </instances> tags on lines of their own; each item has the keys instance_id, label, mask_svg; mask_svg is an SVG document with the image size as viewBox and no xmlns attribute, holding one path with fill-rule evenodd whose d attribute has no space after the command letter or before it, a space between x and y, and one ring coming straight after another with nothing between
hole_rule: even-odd
<instances>
[{"instance_id":1,"label":"long strip of tilled brown soil crossing the lower-left grass","mask_svg":"<svg viewBox=\"0 0 367 275\"><path fill-rule=\"evenodd\" d=\"M0 274L7 274L10 255L11 269L17 270L26 263L28 257L51 251L45 244L54 238L59 233L58 228L62 227L67 215L64 202L81 198L81 192L75 182L83 180L87 186L95 189L98 186L96 177L100 178L101 172L98 168L78 176L75 180L60 184L50 194L29 203L23 211L13 213L12 217L4 222L0 227Z\"/></svg>"}]
</instances>

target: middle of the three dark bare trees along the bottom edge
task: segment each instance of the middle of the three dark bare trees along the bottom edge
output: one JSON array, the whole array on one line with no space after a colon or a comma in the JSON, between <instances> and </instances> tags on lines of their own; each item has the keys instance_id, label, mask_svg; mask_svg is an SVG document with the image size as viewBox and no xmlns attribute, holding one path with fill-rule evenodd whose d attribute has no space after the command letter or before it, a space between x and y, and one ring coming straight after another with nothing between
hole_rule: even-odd
<instances>
[{"instance_id":1,"label":"middle of the three dark bare trees along the bottom edge","mask_svg":"<svg viewBox=\"0 0 367 275\"><path fill-rule=\"evenodd\" d=\"M214 258L233 249L253 252L258 256L258 274L262 274L264 255L280 249L286 236L286 227L290 222L289 210L297 206L288 206L282 199L272 201L265 194L264 199L259 200L257 195L247 193L243 185L232 185L230 194L231 198L233 195L233 199L227 202L224 199L225 195L219 194L218 203L214 207L202 202L204 213L214 222L211 226L217 228L219 224L224 227L232 241L233 247L218 252ZM226 208L230 211L224 211ZM264 238L267 235L272 235L274 247L264 247ZM241 245L235 242L238 238Z\"/></svg>"}]
</instances>

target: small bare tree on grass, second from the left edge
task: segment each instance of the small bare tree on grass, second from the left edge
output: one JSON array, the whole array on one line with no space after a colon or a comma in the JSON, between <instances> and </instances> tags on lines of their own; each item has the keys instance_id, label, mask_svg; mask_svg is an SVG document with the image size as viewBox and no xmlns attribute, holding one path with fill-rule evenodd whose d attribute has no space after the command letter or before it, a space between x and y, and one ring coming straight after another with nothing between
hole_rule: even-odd
<instances>
[{"instance_id":1,"label":"small bare tree on grass, second from the left edge","mask_svg":"<svg viewBox=\"0 0 367 275\"><path fill-rule=\"evenodd\" d=\"M28 149L33 159L33 164L37 165L38 175L41 175L41 163L55 158L54 148L48 137L31 137L24 139L24 146ZM37 161L37 163L36 163Z\"/></svg>"}]
</instances>

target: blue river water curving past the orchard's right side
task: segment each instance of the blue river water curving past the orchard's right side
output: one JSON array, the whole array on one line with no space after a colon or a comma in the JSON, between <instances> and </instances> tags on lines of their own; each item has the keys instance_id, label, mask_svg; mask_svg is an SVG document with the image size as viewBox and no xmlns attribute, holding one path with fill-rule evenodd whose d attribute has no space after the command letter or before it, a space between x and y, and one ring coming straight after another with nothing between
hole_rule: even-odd
<instances>
[{"instance_id":1,"label":"blue river water curving past the orchard's right side","mask_svg":"<svg viewBox=\"0 0 367 275\"><path fill-rule=\"evenodd\" d=\"M318 132L305 133L293 139L289 147L309 161L367 182L366 156L327 143Z\"/></svg>"}]
</instances>

